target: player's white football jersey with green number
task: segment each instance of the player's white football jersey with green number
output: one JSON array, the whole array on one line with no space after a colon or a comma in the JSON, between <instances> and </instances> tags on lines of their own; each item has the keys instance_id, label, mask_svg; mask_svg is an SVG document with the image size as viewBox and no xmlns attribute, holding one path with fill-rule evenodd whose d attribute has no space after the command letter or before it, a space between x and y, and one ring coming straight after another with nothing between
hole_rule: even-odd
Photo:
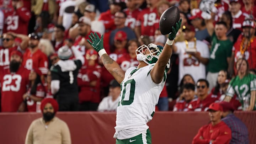
<instances>
[{"instance_id":1,"label":"player's white football jersey with green number","mask_svg":"<svg viewBox=\"0 0 256 144\"><path fill-rule=\"evenodd\" d=\"M121 83L114 138L128 139L148 129L159 95L164 87L166 73L160 84L155 84L150 71L154 64L140 69L129 68Z\"/></svg>"}]
</instances>

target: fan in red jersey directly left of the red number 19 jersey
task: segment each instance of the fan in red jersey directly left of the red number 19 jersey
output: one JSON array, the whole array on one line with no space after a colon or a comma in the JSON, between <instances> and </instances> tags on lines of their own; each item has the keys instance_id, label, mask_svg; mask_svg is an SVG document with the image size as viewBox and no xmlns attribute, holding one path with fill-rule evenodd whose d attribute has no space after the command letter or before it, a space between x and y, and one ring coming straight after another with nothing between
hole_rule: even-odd
<instances>
[{"instance_id":1,"label":"fan in red jersey directly left of the red number 19 jersey","mask_svg":"<svg viewBox=\"0 0 256 144\"><path fill-rule=\"evenodd\" d=\"M125 2L127 6L127 8L123 10L127 15L125 26L134 29L137 16L142 10L136 8L136 3L134 0L126 0Z\"/></svg>"}]
</instances>

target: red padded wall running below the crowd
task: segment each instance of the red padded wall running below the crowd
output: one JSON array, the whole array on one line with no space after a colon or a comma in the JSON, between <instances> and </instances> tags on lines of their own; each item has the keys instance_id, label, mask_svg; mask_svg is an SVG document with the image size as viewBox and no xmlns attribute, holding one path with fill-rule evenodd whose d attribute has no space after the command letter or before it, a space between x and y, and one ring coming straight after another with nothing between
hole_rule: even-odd
<instances>
[{"instance_id":1,"label":"red padded wall running below the crowd","mask_svg":"<svg viewBox=\"0 0 256 144\"><path fill-rule=\"evenodd\" d=\"M250 144L256 143L256 112L235 112L245 122ZM72 144L114 144L116 113L58 112L69 126ZM0 113L0 143L23 144L31 122L41 113ZM156 112L149 122L153 144L191 144L198 129L209 123L207 112Z\"/></svg>"}]
</instances>

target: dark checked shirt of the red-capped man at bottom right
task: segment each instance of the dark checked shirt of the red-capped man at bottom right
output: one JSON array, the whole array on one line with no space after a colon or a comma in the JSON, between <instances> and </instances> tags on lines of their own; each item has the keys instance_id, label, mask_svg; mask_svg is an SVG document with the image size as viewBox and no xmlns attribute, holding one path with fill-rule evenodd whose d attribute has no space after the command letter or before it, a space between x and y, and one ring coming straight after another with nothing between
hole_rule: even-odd
<instances>
[{"instance_id":1,"label":"dark checked shirt of the red-capped man at bottom right","mask_svg":"<svg viewBox=\"0 0 256 144\"><path fill-rule=\"evenodd\" d=\"M230 144L249 144L249 133L245 124L234 114L230 113L222 119L232 132Z\"/></svg>"}]
</instances>

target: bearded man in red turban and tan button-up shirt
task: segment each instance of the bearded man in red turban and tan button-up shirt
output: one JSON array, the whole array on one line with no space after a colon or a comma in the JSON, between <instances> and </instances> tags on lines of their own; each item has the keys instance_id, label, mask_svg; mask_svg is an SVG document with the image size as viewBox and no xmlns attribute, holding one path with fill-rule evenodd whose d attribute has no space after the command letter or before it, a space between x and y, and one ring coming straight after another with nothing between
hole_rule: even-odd
<instances>
[{"instance_id":1,"label":"bearded man in red turban and tan button-up shirt","mask_svg":"<svg viewBox=\"0 0 256 144\"><path fill-rule=\"evenodd\" d=\"M68 125L55 116L59 105L53 98L41 101L42 118L35 119L28 128L25 144L71 144ZM46 132L47 131L47 132Z\"/></svg>"}]
</instances>

